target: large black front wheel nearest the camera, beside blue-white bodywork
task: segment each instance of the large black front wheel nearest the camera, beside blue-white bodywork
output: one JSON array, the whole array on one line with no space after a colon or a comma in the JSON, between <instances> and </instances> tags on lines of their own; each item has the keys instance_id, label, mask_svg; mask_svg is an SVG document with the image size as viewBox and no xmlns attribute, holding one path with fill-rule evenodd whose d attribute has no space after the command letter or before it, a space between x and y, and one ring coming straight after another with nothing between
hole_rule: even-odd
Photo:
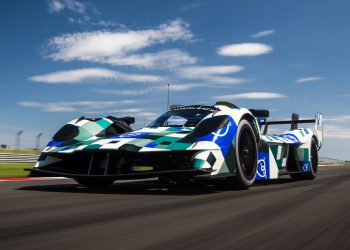
<instances>
[{"instance_id":1,"label":"large black front wheel nearest the camera, beside blue-white bodywork","mask_svg":"<svg viewBox=\"0 0 350 250\"><path fill-rule=\"evenodd\" d=\"M242 120L237 128L236 142L236 185L248 189L253 185L258 163L258 145L255 133L247 120Z\"/></svg>"}]
</instances>

